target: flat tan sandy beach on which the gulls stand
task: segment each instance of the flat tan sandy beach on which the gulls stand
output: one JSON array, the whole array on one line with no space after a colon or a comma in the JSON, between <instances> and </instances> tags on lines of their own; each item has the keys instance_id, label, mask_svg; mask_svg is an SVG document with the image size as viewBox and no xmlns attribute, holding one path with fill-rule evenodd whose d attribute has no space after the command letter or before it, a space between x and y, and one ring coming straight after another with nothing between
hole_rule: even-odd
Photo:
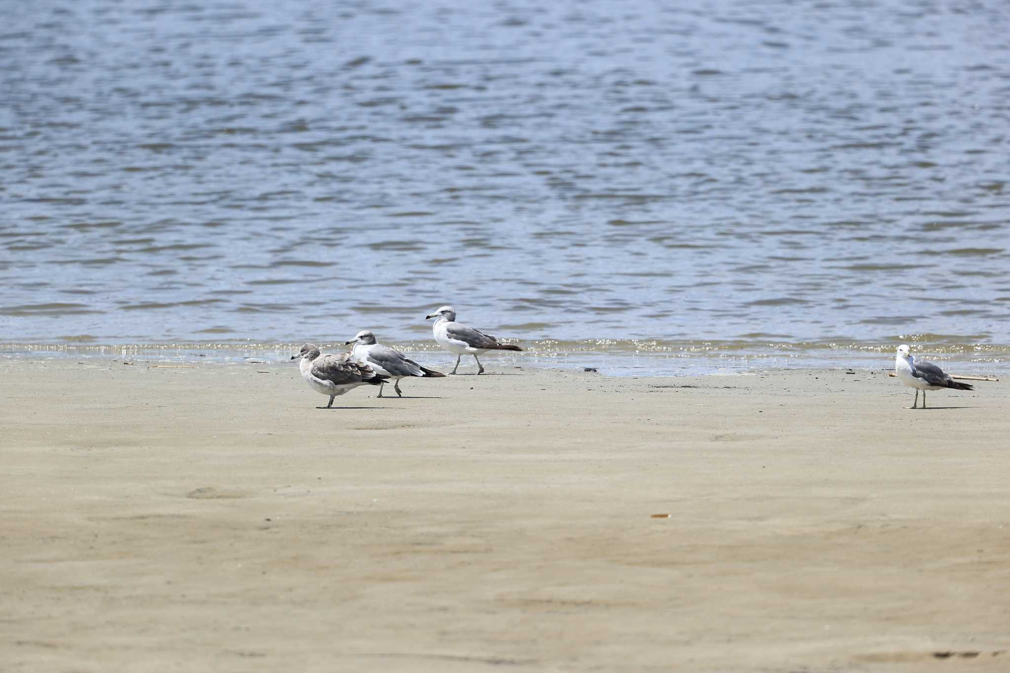
<instances>
[{"instance_id":1,"label":"flat tan sandy beach on which the gulls stand","mask_svg":"<svg viewBox=\"0 0 1010 673\"><path fill-rule=\"evenodd\" d=\"M4 673L1010 670L1005 382L149 364L0 364Z\"/></svg>"}]
</instances>

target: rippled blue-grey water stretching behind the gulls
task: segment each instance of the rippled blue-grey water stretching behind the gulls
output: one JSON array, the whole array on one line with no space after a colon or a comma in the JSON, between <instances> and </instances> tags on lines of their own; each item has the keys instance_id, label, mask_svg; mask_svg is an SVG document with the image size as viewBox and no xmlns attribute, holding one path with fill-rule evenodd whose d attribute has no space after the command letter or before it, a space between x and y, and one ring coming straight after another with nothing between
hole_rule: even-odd
<instances>
[{"instance_id":1,"label":"rippled blue-grey water stretching behind the gulls","mask_svg":"<svg viewBox=\"0 0 1010 673\"><path fill-rule=\"evenodd\" d=\"M8 344L1010 353L1005 2L4 14Z\"/></svg>"}]
</instances>

